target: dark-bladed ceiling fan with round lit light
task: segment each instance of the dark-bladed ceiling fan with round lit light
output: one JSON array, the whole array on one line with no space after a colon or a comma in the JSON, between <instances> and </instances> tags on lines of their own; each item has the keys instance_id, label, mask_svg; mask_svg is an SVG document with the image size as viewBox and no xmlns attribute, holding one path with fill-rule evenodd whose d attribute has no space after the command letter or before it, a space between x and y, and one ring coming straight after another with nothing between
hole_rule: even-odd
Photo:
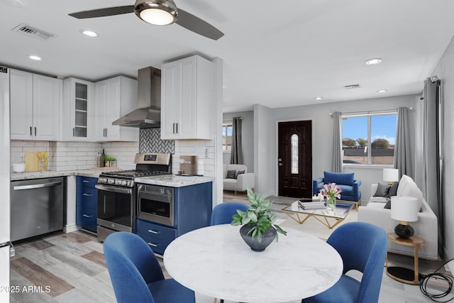
<instances>
[{"instance_id":1,"label":"dark-bladed ceiling fan with round lit light","mask_svg":"<svg viewBox=\"0 0 454 303\"><path fill-rule=\"evenodd\" d=\"M84 19L115 16L122 13L135 13L143 21L158 26L177 23L189 31L213 40L218 40L224 35L211 24L201 20L201 18L182 9L177 9L173 0L136 0L134 5L108 7L92 11L77 11L69 15L74 18Z\"/></svg>"}]
</instances>

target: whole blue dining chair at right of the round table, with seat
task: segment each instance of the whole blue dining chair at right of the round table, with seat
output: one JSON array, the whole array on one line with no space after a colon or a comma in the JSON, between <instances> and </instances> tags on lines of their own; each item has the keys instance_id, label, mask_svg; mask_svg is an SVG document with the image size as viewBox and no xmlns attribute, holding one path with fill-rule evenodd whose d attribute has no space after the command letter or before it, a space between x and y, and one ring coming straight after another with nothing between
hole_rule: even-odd
<instances>
[{"instance_id":1,"label":"whole blue dining chair at right of the round table, with seat","mask_svg":"<svg viewBox=\"0 0 454 303\"><path fill-rule=\"evenodd\" d=\"M339 226L326 241L343 260L343 275L331 288L304 303L374 303L378 302L387 250L384 230L365 222ZM345 275L349 270L362 272L360 281Z\"/></svg>"}]
</instances>

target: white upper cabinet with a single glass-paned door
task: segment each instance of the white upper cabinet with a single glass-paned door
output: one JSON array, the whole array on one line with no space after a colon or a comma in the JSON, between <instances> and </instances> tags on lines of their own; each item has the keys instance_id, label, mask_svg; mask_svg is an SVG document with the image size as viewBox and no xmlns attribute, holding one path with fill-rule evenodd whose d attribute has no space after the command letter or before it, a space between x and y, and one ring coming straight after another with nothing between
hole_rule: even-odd
<instances>
[{"instance_id":1,"label":"white upper cabinet with a single glass-paned door","mask_svg":"<svg viewBox=\"0 0 454 303\"><path fill-rule=\"evenodd\" d=\"M63 80L62 140L92 139L93 82L75 78Z\"/></svg>"}]
</instances>

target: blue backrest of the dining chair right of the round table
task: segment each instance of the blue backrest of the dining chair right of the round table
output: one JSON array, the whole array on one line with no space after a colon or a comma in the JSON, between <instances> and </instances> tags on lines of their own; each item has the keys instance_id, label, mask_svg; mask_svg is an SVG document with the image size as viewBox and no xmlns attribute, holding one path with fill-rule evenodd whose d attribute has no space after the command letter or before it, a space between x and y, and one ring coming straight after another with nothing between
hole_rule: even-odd
<instances>
[{"instance_id":1,"label":"blue backrest of the dining chair right of the round table","mask_svg":"<svg viewBox=\"0 0 454 303\"><path fill-rule=\"evenodd\" d=\"M357 302L377 302L387 250L384 230L366 222L351 222L339 226L326 242L341 255L344 274L362 272Z\"/></svg>"}]
</instances>

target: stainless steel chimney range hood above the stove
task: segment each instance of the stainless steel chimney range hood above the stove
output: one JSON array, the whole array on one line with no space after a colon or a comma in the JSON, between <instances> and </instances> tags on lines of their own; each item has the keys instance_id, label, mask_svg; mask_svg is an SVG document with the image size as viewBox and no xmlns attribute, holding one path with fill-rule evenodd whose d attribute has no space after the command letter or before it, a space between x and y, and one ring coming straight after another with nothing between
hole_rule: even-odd
<instances>
[{"instance_id":1,"label":"stainless steel chimney range hood above the stove","mask_svg":"<svg viewBox=\"0 0 454 303\"><path fill-rule=\"evenodd\" d=\"M138 109L112 125L138 128L160 127L161 121L161 70L145 67L138 71Z\"/></svg>"}]
</instances>

